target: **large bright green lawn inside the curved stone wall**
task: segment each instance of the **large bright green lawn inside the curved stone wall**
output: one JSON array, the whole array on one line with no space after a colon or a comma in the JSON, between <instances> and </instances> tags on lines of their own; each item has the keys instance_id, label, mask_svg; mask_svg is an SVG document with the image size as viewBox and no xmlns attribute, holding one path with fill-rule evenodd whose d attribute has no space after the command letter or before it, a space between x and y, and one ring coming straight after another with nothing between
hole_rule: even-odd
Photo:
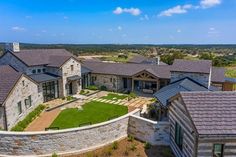
<instances>
[{"instance_id":1,"label":"large bright green lawn inside the curved stone wall","mask_svg":"<svg viewBox=\"0 0 236 157\"><path fill-rule=\"evenodd\" d=\"M127 106L97 101L86 103L82 108L82 110L77 108L63 110L50 127L59 127L59 129L74 128L89 123L101 123L128 113Z\"/></svg>"}]
</instances>

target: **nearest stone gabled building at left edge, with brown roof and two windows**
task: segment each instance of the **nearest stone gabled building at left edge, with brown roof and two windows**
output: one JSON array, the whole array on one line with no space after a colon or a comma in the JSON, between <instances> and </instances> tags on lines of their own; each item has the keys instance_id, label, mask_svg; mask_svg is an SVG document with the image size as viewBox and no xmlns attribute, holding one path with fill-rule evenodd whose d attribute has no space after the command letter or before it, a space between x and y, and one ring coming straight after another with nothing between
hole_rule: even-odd
<instances>
[{"instance_id":1,"label":"nearest stone gabled building at left edge, with brown roof and two windows","mask_svg":"<svg viewBox=\"0 0 236 157\"><path fill-rule=\"evenodd\" d=\"M0 66L0 128L11 129L42 103L38 83L9 65Z\"/></svg>"}]
</instances>

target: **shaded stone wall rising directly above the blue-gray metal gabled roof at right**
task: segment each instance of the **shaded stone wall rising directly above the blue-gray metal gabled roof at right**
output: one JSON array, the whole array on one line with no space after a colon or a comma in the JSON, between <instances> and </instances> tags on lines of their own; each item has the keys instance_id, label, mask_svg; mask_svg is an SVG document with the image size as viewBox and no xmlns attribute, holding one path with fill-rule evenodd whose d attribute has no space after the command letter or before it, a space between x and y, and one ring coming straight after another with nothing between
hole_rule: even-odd
<instances>
[{"instance_id":1,"label":"shaded stone wall rising directly above the blue-gray metal gabled roof at right","mask_svg":"<svg viewBox=\"0 0 236 157\"><path fill-rule=\"evenodd\" d=\"M171 72L171 82L178 81L185 77L189 77L201 84L204 84L206 87L208 87L209 83L211 82L209 74Z\"/></svg>"}]
</instances>

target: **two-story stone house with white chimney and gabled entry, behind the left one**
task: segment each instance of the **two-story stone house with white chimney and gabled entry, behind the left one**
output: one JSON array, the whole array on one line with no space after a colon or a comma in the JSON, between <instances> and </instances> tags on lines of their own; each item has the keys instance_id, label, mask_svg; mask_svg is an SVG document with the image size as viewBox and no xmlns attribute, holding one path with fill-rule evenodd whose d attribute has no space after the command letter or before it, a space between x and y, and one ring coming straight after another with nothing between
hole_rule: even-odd
<instances>
[{"instance_id":1,"label":"two-story stone house with white chimney and gabled entry, behind the left one","mask_svg":"<svg viewBox=\"0 0 236 157\"><path fill-rule=\"evenodd\" d=\"M0 65L11 65L36 81L44 102L81 90L81 64L64 49L21 50L14 43L1 56Z\"/></svg>"}]
</instances>

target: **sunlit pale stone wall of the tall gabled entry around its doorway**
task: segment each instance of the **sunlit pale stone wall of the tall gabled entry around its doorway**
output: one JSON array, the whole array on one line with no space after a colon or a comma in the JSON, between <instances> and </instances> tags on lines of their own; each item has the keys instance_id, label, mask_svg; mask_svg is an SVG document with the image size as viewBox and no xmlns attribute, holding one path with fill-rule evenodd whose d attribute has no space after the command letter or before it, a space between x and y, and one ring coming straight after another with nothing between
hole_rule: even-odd
<instances>
[{"instance_id":1,"label":"sunlit pale stone wall of the tall gabled entry around its doorway","mask_svg":"<svg viewBox=\"0 0 236 157\"><path fill-rule=\"evenodd\" d=\"M73 70L71 69L71 65L73 65ZM70 58L62 67L61 67L61 76L62 76L62 95L68 95L68 81L67 78L71 76L78 75L81 77L81 64L75 60L74 58ZM81 80L77 80L73 83L73 91L74 93L79 93L82 89Z\"/></svg>"}]
</instances>

